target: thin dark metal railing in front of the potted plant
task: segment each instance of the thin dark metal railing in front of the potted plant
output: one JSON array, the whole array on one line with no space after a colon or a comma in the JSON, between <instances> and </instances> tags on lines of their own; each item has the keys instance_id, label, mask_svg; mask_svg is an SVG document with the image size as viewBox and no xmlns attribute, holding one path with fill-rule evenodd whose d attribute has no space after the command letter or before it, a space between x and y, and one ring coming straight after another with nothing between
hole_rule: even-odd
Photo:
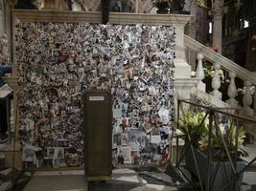
<instances>
[{"instance_id":1,"label":"thin dark metal railing in front of the potted plant","mask_svg":"<svg viewBox=\"0 0 256 191\"><path fill-rule=\"evenodd\" d=\"M239 159L239 153L238 153L238 149L239 149L239 128L243 128L242 125L244 125L245 122L250 122L250 123L255 123L256 124L256 120L253 120L251 118L247 118L247 117L241 117L241 116L237 116L237 115L233 115L227 112L223 112L222 110L227 110L230 111L232 108L212 108L212 107L207 107L207 106L203 106L203 105L199 105L197 103L193 103L187 100L178 100L178 114L177 114L177 128L179 129L179 121L181 120L181 114L180 112L183 112L183 108L182 108L182 104L187 104L189 107L186 107L187 109L189 109L190 111L193 111L193 109L191 107L195 107L198 108L199 110L203 110L205 112L205 116L202 117L201 121L198 123L198 130L199 128L202 126L204 120L206 119L206 117L208 117L209 119L209 125L208 125L208 138L207 138L207 150L206 150L206 159L207 159L207 165L205 169L201 169L201 164L198 162L198 148L194 148L194 145L192 144L193 138L190 135L190 131L189 131L189 127L183 127L184 129L184 133L186 135L186 143L184 146L184 150L180 156L180 158L178 158L178 156L176 156L176 168L182 173L183 177L188 180L189 182L191 182L191 185L193 186L193 182L192 180L188 179L188 177L185 175L185 173L182 172L181 167L181 161L182 159L185 158L185 154L190 151L192 153L192 158L193 158L193 162L195 163L195 171L196 171L196 176L198 177L198 181L199 181L199 187L201 191L210 191L210 190L214 190L214 186L213 183L215 182L215 180L217 179L217 174L218 174L218 170L220 168L224 169L224 176L225 179L227 180L226 184L221 187L221 191L227 190L228 189L232 189L232 190L242 190L242 185L241 185L241 177L242 174L244 173L244 170L250 166L255 160L252 159L250 162L248 162L247 164L244 163L244 168L241 170L238 169L238 162L241 162L241 159ZM234 108L233 108L234 109ZM182 111L181 111L182 110ZM220 117L221 116L221 117ZM234 152L230 153L229 151L229 147L228 147L228 142L226 142L226 138L225 135L223 135L223 133L221 132L220 129L220 119L221 118L229 118L230 119L230 124L229 125L229 130L226 131L233 131L233 135L235 136L235 143L234 143ZM234 124L235 123L235 124ZM215 135L214 135L215 134ZM176 135L176 132L175 132ZM218 138L218 140L221 142L221 145L223 147L223 154L226 156L226 160L219 160L219 159L215 159L215 162L217 163L216 168L214 168L215 173L213 174L213 169L211 163L213 162L213 136L215 136L215 138ZM176 135L176 144L178 144L178 138ZM177 154L177 151L176 151ZM226 164L228 163L228 165L230 166L230 169L227 169ZM200 166L200 169L199 169ZM201 171L206 171L206 173L204 174L204 177L201 177L200 173ZM230 174L228 175L227 171L230 172ZM194 187L194 186L193 186ZM198 188L194 187L194 190L198 190ZM216 190L216 189L215 189Z\"/></svg>"}]
</instances>

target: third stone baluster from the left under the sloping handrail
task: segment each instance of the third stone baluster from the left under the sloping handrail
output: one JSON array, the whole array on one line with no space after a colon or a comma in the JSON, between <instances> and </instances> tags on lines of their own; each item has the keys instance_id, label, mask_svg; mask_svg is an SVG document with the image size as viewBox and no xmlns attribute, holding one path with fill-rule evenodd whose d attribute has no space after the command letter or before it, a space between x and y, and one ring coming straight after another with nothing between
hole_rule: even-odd
<instances>
[{"instance_id":1,"label":"third stone baluster from the left under the sloping handrail","mask_svg":"<svg viewBox=\"0 0 256 191\"><path fill-rule=\"evenodd\" d=\"M230 84L227 89L227 95L229 96L229 99L226 101L228 104L230 104L232 107L237 107L238 106L238 101L235 99L235 97L238 94L237 87L236 87L236 82L235 82L235 77L237 75L235 73L230 72L229 77L230 77Z\"/></svg>"}]
</instances>

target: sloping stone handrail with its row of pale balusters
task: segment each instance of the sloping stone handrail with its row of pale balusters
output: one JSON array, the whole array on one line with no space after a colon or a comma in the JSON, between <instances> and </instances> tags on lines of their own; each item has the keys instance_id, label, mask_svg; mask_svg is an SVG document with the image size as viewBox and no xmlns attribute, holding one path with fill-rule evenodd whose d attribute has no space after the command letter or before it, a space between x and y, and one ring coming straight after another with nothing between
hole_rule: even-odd
<instances>
[{"instance_id":1,"label":"sloping stone handrail with its row of pale balusters","mask_svg":"<svg viewBox=\"0 0 256 191\"><path fill-rule=\"evenodd\" d=\"M217 99L221 99L222 93L219 91L221 88L221 76L219 74L219 70L224 70L229 77L229 86L227 91L227 96L229 97L226 102L231 107L238 107L238 101L236 100L236 96L238 95L238 89L235 83L235 78L239 77L244 81L244 97L243 97L243 104L244 104L244 115L246 116L253 116L253 110L251 109L251 105L253 102L253 96L251 93L252 86L256 86L256 75L250 73L249 71L245 70L243 67L237 65L233 61L227 59L226 57L222 56L220 53L216 53L213 50L207 48L206 46L200 44L198 41L194 40L193 38L185 35L184 36L184 44L185 47L188 48L189 51L197 53L198 59L198 67L196 71L196 76L198 77L198 89L205 92L205 84L203 83L204 79L204 70L202 60L206 59L213 63L214 74L212 76L212 89L213 92L210 93ZM256 92L256 91L254 91ZM255 94L255 93L254 93ZM256 97L254 95L254 97ZM256 99L254 99L254 111L256 106Z\"/></svg>"}]
</instances>

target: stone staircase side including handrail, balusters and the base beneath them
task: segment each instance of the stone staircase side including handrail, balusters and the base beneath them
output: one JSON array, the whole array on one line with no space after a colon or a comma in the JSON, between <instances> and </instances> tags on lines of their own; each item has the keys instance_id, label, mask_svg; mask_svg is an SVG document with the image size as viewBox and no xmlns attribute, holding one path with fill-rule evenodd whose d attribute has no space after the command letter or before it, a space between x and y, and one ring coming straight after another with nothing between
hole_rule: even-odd
<instances>
[{"instance_id":1,"label":"stone staircase side including handrail, balusters and the base beneath them","mask_svg":"<svg viewBox=\"0 0 256 191\"><path fill-rule=\"evenodd\" d=\"M196 78L198 78L197 87L193 88L190 96L203 100L209 105L221 108L235 108L235 113L244 117L256 120L256 75L245 70L243 67L237 65L233 61L222 56L220 53L212 51L210 48L200 44L193 38L184 35L184 47L189 53L197 53L198 67L196 70ZM188 54L189 54L188 53ZM212 92L206 92L204 79L203 60L207 60L213 64L214 74L212 75ZM226 93L220 92L221 76L220 70L224 71L224 81L229 82ZM238 77L244 81L243 88L243 103L239 104L236 99L238 96L238 89L235 78ZM226 94L229 99L222 100L222 95ZM240 106L239 106L240 105ZM242 106L241 106L242 105ZM256 138L256 125L253 123L246 123L245 130Z\"/></svg>"}]
</instances>

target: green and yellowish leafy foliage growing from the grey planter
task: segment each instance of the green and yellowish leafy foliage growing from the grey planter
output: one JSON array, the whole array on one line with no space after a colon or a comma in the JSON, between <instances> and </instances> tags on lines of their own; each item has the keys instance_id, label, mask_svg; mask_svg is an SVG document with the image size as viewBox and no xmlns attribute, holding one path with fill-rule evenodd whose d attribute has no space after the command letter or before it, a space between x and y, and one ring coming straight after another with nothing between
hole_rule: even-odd
<instances>
[{"instance_id":1,"label":"green and yellowish leafy foliage growing from the grey planter","mask_svg":"<svg viewBox=\"0 0 256 191\"><path fill-rule=\"evenodd\" d=\"M203 153L208 152L209 145L209 116L196 110L194 113L186 111L184 117L179 120L179 129L185 133L186 139L188 135L191 138L191 144L194 148L200 150ZM236 148L236 136L238 132L238 147ZM228 153L231 159L235 159L236 154L238 157L247 157L248 154L243 150L245 132L242 126L238 127L232 124L231 120L227 120L226 123L213 122L212 124L212 138L211 138L211 150L213 160L225 161L228 159L228 155L225 150L225 146L221 137L227 146Z\"/></svg>"}]
</instances>

